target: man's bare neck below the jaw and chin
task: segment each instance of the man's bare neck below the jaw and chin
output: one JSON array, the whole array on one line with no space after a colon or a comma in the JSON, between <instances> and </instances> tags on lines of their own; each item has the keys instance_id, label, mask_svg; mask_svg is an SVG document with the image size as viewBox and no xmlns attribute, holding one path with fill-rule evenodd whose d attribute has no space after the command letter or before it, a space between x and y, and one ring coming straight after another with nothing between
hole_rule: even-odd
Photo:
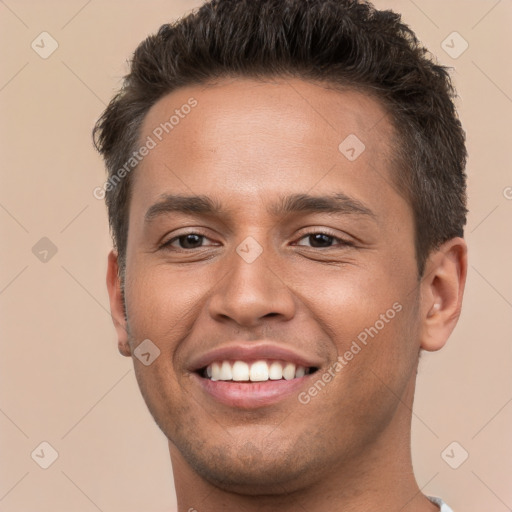
<instances>
[{"instance_id":1,"label":"man's bare neck below the jaw and chin","mask_svg":"<svg viewBox=\"0 0 512 512\"><path fill-rule=\"evenodd\" d=\"M421 493L413 474L409 406L413 394L412 379L408 396L402 397L390 424L363 453L339 467L326 468L308 483L283 485L279 493L239 494L213 485L198 475L169 442L178 511L439 512Z\"/></svg>"}]
</instances>

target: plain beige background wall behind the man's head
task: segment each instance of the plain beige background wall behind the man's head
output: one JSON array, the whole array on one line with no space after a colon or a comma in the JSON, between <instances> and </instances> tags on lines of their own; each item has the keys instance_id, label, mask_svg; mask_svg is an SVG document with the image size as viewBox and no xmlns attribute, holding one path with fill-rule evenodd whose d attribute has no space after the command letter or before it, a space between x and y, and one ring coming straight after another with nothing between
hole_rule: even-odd
<instances>
[{"instance_id":1,"label":"plain beige background wall behind the man's head","mask_svg":"<svg viewBox=\"0 0 512 512\"><path fill-rule=\"evenodd\" d=\"M138 42L199 4L0 1L2 512L175 510L166 440L117 352L108 312L110 239L92 195L104 170L90 132ZM455 67L470 153L465 304L446 348L420 365L417 480L455 511L510 510L512 3L376 5L401 12ZM31 48L43 31L59 45L48 59ZM469 43L456 59L441 47L453 31ZM57 248L46 262L32 252L42 237ZM48 469L36 463L49 457L43 441L58 452ZM453 441L452 464L469 453L458 469L441 456Z\"/></svg>"}]
</instances>

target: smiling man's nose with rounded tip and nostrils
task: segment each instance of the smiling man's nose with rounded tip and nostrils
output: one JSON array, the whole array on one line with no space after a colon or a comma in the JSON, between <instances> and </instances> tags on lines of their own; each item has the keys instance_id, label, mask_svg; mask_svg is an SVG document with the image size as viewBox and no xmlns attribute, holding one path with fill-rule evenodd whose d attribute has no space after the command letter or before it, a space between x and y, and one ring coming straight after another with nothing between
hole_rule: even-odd
<instances>
[{"instance_id":1,"label":"smiling man's nose with rounded tip and nostrils","mask_svg":"<svg viewBox=\"0 0 512 512\"><path fill-rule=\"evenodd\" d=\"M256 327L270 318L293 318L296 302L290 284L279 266L271 268L266 252L248 263L233 251L226 261L230 271L210 297L209 313L214 320Z\"/></svg>"}]
</instances>

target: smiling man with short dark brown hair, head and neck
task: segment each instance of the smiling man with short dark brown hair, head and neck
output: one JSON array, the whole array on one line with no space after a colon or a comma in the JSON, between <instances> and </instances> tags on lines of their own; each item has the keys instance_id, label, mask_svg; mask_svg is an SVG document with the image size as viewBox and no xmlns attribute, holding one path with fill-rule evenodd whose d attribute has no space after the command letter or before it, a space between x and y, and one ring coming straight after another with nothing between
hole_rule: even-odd
<instances>
[{"instance_id":1,"label":"smiling man with short dark brown hair, head and neck","mask_svg":"<svg viewBox=\"0 0 512 512\"><path fill-rule=\"evenodd\" d=\"M450 510L410 426L466 279L453 96L354 0L213 0L137 48L95 128L107 285L180 511Z\"/></svg>"}]
</instances>

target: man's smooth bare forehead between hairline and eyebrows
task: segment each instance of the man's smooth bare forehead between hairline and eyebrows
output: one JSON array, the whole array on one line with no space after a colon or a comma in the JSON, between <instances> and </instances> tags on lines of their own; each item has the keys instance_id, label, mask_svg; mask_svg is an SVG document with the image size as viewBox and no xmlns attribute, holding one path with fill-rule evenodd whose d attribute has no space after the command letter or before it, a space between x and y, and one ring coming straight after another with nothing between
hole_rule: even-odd
<instances>
[{"instance_id":1,"label":"man's smooth bare forehead between hairline and eyebrows","mask_svg":"<svg viewBox=\"0 0 512 512\"><path fill-rule=\"evenodd\" d=\"M154 147L133 187L145 203L177 190L234 202L340 187L391 200L392 134L384 107L354 90L300 79L184 87L146 115L140 143Z\"/></svg>"}]
</instances>

